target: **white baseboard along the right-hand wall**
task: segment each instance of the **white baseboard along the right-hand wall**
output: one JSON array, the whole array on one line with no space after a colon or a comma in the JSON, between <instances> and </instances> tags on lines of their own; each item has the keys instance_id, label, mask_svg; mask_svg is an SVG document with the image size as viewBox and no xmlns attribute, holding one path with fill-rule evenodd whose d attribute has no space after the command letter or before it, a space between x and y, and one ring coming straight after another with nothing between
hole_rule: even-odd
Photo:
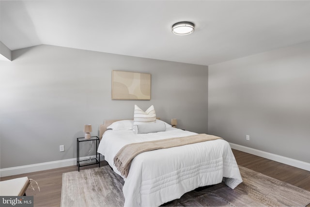
<instances>
[{"instance_id":1,"label":"white baseboard along the right-hand wall","mask_svg":"<svg viewBox=\"0 0 310 207\"><path fill-rule=\"evenodd\" d=\"M249 153L249 154L252 154L252 155L256 155L256 156L262 157L262 158L271 159L271 160L274 160L274 161L277 161L277 162L281 162L283 164L291 165L291 166L294 166L294 167L297 167L297 168L300 168L300 169L303 169L303 170L310 171L310 163L308 163L308 162L304 162L304 161L300 161L300 160L297 160L297 159L291 159L291 158L283 157L283 156L280 156L280 155L272 154L272 153L269 153L269 152L264 152L264 151L261 151L261 150L258 150L258 149L250 148L250 147L247 147L247 146L242 146L242 145L239 145L239 144L234 144L234 143L229 143L229 144L231 145L232 149L236 149L236 150L239 150L239 151L242 151L242 152L246 152L246 153Z\"/></svg>"}]
</instances>

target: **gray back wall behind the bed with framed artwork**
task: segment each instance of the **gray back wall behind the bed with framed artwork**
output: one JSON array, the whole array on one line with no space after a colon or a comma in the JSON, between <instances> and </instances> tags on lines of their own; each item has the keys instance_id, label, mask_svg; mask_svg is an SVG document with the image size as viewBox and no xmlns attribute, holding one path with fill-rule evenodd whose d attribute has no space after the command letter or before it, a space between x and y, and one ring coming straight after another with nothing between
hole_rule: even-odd
<instances>
[{"instance_id":1,"label":"gray back wall behind the bed with framed artwork","mask_svg":"<svg viewBox=\"0 0 310 207\"><path fill-rule=\"evenodd\" d=\"M1 168L76 158L84 124L97 135L105 119L133 118L134 104L207 132L207 66L48 45L12 51L12 60L0 61ZM112 70L151 73L151 100L111 100Z\"/></svg>"}]
</instances>

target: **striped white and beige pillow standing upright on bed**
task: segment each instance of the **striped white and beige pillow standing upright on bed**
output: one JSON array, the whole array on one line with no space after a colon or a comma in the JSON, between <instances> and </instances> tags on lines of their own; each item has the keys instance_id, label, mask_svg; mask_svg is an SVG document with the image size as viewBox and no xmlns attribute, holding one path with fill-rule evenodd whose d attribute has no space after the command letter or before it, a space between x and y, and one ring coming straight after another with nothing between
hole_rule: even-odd
<instances>
[{"instance_id":1,"label":"striped white and beige pillow standing upright on bed","mask_svg":"<svg viewBox=\"0 0 310 207\"><path fill-rule=\"evenodd\" d=\"M154 106L150 106L145 112L142 111L137 105L135 105L134 111L134 125L148 124L156 122L156 113Z\"/></svg>"}]
</instances>

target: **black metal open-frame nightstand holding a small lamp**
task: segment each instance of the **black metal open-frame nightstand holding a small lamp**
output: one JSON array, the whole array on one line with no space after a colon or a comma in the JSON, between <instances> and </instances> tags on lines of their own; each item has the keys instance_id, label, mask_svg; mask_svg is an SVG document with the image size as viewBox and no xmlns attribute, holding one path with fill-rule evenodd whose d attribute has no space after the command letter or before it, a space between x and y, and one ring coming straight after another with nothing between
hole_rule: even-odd
<instances>
[{"instance_id":1,"label":"black metal open-frame nightstand holding a small lamp","mask_svg":"<svg viewBox=\"0 0 310 207\"><path fill-rule=\"evenodd\" d=\"M85 160L79 160L79 143L80 142L87 142L87 141L96 141L96 158L92 159L85 159ZM94 164L99 164L100 167L100 154L97 153L98 145L99 145L99 137L93 136L91 139L86 140L84 137L77 138L77 152L78 152L78 157L77 157L77 166L78 166L78 172L80 167L88 166L88 165L94 165ZM85 164L82 164L80 162L85 162L88 161Z\"/></svg>"}]
</instances>

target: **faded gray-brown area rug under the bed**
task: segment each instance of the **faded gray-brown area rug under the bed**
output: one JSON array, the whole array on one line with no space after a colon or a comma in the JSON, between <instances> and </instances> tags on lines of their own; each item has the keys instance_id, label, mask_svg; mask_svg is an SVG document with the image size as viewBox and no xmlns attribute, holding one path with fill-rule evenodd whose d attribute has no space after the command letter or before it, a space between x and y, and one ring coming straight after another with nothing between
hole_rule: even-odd
<instances>
[{"instance_id":1,"label":"faded gray-brown area rug under the bed","mask_svg":"<svg viewBox=\"0 0 310 207\"><path fill-rule=\"evenodd\" d=\"M220 183L185 193L164 206L306 206L310 191L239 166L243 183ZM124 180L109 166L64 173L62 207L124 206Z\"/></svg>"}]
</instances>

